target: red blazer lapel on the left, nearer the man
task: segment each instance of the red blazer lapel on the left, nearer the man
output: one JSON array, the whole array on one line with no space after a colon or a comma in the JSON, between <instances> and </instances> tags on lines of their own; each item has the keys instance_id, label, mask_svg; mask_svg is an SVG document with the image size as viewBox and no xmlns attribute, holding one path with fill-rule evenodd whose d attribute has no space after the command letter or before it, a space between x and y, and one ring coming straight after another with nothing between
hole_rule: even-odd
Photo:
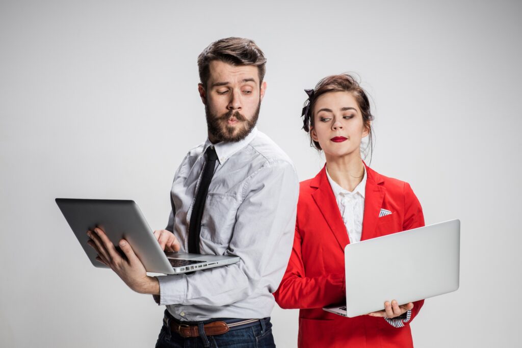
<instances>
[{"instance_id":1,"label":"red blazer lapel on the left, nearer the man","mask_svg":"<svg viewBox=\"0 0 522 348\"><path fill-rule=\"evenodd\" d=\"M350 243L350 240L345 223L342 221L339 207L337 206L337 200L326 176L326 165L323 167L323 170L315 176L310 186L317 188L312 194L312 197L319 210L321 210L331 232L334 233L339 246L344 250L345 246Z\"/></svg>"}]
</instances>

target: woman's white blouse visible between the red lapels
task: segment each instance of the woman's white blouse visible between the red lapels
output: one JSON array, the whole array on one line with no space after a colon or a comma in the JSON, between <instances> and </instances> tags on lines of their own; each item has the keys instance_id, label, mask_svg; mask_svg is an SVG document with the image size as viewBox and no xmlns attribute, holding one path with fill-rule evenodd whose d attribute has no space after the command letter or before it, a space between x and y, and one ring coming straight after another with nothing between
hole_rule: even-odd
<instances>
[{"instance_id":1,"label":"woman's white blouse visible between the red lapels","mask_svg":"<svg viewBox=\"0 0 522 348\"><path fill-rule=\"evenodd\" d=\"M334 191L334 196L337 200L339 211L341 212L342 221L345 223L350 243L360 242L362 219L364 216L366 168L364 168L362 181L351 192L337 184L334 179L330 177L330 174L328 174L328 170L326 170L326 176L328 177L332 191Z\"/></svg>"}]
</instances>

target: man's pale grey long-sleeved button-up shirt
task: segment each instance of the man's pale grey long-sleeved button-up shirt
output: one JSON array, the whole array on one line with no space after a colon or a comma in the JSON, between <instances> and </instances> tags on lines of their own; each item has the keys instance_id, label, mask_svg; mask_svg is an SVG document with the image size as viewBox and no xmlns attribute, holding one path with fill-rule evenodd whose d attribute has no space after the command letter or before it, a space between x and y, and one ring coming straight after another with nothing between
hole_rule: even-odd
<instances>
[{"instance_id":1,"label":"man's pale grey long-sleeved button-up shirt","mask_svg":"<svg viewBox=\"0 0 522 348\"><path fill-rule=\"evenodd\" d=\"M174 175L167 230L188 250L188 225L205 164L218 155L201 219L200 251L241 260L193 274L158 277L160 304L180 321L270 316L272 295L292 250L299 180L288 156L256 128L243 140L207 141L190 150Z\"/></svg>"}]
</instances>

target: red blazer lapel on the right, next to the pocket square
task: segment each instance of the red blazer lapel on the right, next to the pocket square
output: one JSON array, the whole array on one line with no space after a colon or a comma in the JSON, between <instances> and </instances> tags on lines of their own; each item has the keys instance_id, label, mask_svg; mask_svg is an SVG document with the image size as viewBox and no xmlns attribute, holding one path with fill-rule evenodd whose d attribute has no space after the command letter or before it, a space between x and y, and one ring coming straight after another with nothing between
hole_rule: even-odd
<instances>
[{"instance_id":1,"label":"red blazer lapel on the right, next to the pocket square","mask_svg":"<svg viewBox=\"0 0 522 348\"><path fill-rule=\"evenodd\" d=\"M366 163L364 163L366 166ZM366 166L366 189L364 197L364 215L362 220L361 241L376 237L375 228L379 212L383 206L386 189L381 185L384 181L379 174Z\"/></svg>"}]
</instances>

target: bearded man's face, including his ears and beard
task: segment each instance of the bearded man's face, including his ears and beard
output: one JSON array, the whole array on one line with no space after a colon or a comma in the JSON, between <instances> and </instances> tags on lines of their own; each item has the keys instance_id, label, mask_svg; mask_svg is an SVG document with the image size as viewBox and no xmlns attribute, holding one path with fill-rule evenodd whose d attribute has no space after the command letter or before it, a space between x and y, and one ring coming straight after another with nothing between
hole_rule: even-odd
<instances>
[{"instance_id":1,"label":"bearded man's face, including his ears and beard","mask_svg":"<svg viewBox=\"0 0 522 348\"><path fill-rule=\"evenodd\" d=\"M212 61L207 86L199 83L199 95L205 104L208 138L211 142L244 139L259 116L266 82L259 86L254 65L231 65Z\"/></svg>"}]
</instances>

